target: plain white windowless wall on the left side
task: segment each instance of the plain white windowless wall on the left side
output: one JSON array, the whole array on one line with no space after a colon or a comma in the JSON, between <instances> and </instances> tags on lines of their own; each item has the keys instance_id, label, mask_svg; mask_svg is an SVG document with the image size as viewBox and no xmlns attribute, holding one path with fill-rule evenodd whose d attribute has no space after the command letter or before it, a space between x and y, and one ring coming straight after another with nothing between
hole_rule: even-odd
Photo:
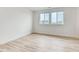
<instances>
[{"instance_id":1,"label":"plain white windowless wall on the left side","mask_svg":"<svg viewBox=\"0 0 79 59\"><path fill-rule=\"evenodd\" d=\"M26 8L0 7L0 44L32 32L32 12Z\"/></svg>"}]
</instances>

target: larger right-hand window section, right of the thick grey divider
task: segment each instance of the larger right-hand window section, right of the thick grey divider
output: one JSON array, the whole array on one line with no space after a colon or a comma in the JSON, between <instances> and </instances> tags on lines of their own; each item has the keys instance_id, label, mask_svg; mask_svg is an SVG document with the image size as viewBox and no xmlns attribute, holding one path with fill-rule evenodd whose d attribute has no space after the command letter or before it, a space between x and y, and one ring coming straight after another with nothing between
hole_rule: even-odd
<instances>
[{"instance_id":1,"label":"larger right-hand window section, right of the thick grey divider","mask_svg":"<svg viewBox=\"0 0 79 59\"><path fill-rule=\"evenodd\" d=\"M52 12L51 24L64 24L64 12Z\"/></svg>"}]
</instances>

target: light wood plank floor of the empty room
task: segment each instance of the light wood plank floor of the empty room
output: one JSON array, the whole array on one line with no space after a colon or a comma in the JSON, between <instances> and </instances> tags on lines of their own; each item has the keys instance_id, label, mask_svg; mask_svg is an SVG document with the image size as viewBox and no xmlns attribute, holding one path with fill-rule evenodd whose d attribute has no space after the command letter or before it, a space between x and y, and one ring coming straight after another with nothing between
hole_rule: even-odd
<instances>
[{"instance_id":1,"label":"light wood plank floor of the empty room","mask_svg":"<svg viewBox=\"0 0 79 59\"><path fill-rule=\"evenodd\" d=\"M32 34L0 45L1 52L76 52L79 40Z\"/></svg>"}]
</instances>

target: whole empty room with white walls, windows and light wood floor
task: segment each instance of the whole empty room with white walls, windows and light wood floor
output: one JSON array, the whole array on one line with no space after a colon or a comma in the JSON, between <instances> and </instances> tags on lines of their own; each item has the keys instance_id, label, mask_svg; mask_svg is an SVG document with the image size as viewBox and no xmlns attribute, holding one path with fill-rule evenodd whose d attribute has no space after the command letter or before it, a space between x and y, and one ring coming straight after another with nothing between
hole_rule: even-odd
<instances>
[{"instance_id":1,"label":"whole empty room with white walls, windows and light wood floor","mask_svg":"<svg viewBox=\"0 0 79 59\"><path fill-rule=\"evenodd\" d=\"M79 52L79 8L0 7L0 52Z\"/></svg>"}]
</instances>

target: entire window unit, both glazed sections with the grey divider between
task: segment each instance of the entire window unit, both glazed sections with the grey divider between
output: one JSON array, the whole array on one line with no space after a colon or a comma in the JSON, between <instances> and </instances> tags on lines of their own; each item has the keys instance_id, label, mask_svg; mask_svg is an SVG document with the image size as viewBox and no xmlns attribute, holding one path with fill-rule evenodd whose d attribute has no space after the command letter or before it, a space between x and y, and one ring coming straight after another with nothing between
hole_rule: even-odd
<instances>
[{"instance_id":1,"label":"entire window unit, both glazed sections with the grey divider between","mask_svg":"<svg viewBox=\"0 0 79 59\"><path fill-rule=\"evenodd\" d=\"M64 12L41 13L40 24L64 24Z\"/></svg>"}]
</instances>

